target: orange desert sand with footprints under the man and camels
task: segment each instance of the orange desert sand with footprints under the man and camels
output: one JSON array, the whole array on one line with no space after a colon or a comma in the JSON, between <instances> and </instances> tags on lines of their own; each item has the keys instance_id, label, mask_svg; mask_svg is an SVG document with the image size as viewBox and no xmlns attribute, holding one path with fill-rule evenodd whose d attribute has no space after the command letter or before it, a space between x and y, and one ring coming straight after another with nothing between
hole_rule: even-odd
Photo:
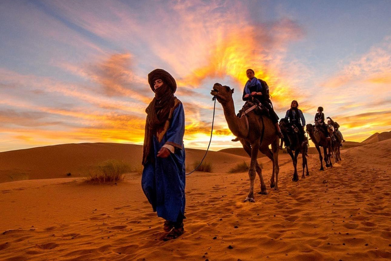
<instances>
[{"instance_id":1,"label":"orange desert sand with footprints under the man and camels","mask_svg":"<svg viewBox=\"0 0 391 261\"><path fill-rule=\"evenodd\" d=\"M187 160L202 153L189 151ZM185 233L169 242L160 240L163 220L136 172L117 185L78 177L0 184L0 260L391 258L391 140L345 149L343 161L325 171L310 154L310 176L298 182L281 154L280 190L257 194L256 203L243 203L248 174L227 174L245 158L211 154L213 173L187 177ZM269 184L271 163L259 161Z\"/></svg>"}]
</instances>

